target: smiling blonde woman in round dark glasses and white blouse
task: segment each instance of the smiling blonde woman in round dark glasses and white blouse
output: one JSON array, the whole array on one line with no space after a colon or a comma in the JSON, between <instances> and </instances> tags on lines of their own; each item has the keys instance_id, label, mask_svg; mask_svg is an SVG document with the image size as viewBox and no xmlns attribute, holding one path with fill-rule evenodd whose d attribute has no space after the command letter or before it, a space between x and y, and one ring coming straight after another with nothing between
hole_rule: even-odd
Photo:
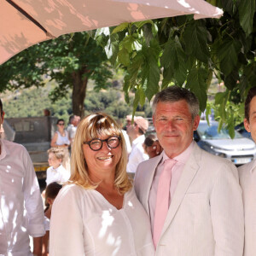
<instances>
[{"instance_id":1,"label":"smiling blonde woman in round dark glasses and white blouse","mask_svg":"<svg viewBox=\"0 0 256 256\"><path fill-rule=\"evenodd\" d=\"M105 113L79 124L72 176L55 199L51 256L154 255L148 216L126 173L125 139Z\"/></svg>"}]
</instances>

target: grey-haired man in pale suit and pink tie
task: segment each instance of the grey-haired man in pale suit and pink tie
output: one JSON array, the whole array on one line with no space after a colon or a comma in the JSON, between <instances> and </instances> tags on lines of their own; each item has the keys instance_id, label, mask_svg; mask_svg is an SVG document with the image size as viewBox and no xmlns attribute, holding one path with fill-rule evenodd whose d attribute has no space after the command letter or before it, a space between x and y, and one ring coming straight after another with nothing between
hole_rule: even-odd
<instances>
[{"instance_id":1,"label":"grey-haired man in pale suit and pink tie","mask_svg":"<svg viewBox=\"0 0 256 256\"><path fill-rule=\"evenodd\" d=\"M198 113L189 90L171 86L155 96L153 121L164 151L138 166L137 197L151 220L157 256L241 256L244 220L236 166L193 141Z\"/></svg>"}]
</instances>

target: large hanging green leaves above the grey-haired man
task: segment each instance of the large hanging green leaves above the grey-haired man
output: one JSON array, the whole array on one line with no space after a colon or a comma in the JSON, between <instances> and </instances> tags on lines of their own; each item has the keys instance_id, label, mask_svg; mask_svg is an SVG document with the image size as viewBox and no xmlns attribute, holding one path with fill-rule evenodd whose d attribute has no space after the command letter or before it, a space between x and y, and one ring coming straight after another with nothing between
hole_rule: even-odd
<instances>
[{"instance_id":1,"label":"large hanging green leaves above the grey-haired man","mask_svg":"<svg viewBox=\"0 0 256 256\"><path fill-rule=\"evenodd\" d=\"M129 91L136 93L133 113L138 102L145 97L150 101L172 84L193 90L204 111L214 73L227 88L224 96L216 95L218 119L232 133L236 114L230 109L235 110L234 103L241 104L247 90L256 84L255 0L207 2L224 9L219 20L194 20L186 15L110 29L111 36L105 41L108 47L119 45L111 61L125 69L125 100L129 101Z\"/></svg>"}]
</instances>

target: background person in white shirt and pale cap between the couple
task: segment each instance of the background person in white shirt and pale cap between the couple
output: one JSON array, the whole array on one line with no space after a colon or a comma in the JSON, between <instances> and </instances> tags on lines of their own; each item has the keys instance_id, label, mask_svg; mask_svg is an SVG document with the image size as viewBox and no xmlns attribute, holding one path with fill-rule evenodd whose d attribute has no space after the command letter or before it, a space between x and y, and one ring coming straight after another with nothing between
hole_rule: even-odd
<instances>
[{"instance_id":1,"label":"background person in white shirt and pale cap between the couple","mask_svg":"<svg viewBox=\"0 0 256 256\"><path fill-rule=\"evenodd\" d=\"M131 154L129 155L127 172L135 173L137 166L144 160L148 160L148 154L145 153L143 143L145 133L148 130L148 120L142 116L135 116L131 125L127 124L127 134L131 137Z\"/></svg>"}]
</instances>

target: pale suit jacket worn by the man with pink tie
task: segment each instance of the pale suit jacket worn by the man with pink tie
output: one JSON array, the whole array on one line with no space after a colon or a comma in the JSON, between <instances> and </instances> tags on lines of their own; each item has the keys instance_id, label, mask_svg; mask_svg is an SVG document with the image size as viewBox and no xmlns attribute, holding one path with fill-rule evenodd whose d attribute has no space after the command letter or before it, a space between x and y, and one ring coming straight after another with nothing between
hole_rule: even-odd
<instances>
[{"instance_id":1,"label":"pale suit jacket worn by the man with pink tie","mask_svg":"<svg viewBox=\"0 0 256 256\"><path fill-rule=\"evenodd\" d=\"M148 195L161 155L137 168L135 190L148 212ZM172 197L157 256L241 256L244 219L236 166L196 144Z\"/></svg>"}]
</instances>

